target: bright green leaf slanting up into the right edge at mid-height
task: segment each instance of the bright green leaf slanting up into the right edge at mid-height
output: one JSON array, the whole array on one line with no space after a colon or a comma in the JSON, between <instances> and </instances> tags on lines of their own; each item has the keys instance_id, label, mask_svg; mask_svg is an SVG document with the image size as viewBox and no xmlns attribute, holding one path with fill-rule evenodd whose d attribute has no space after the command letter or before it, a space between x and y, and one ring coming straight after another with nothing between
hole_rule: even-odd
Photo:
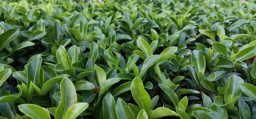
<instances>
[{"instance_id":1,"label":"bright green leaf slanting up into the right edge at mid-height","mask_svg":"<svg viewBox=\"0 0 256 119\"><path fill-rule=\"evenodd\" d=\"M236 58L234 59L234 62L247 60L248 58L255 56L256 55L255 53L256 53L256 46L247 47L236 54Z\"/></svg>"}]
</instances>

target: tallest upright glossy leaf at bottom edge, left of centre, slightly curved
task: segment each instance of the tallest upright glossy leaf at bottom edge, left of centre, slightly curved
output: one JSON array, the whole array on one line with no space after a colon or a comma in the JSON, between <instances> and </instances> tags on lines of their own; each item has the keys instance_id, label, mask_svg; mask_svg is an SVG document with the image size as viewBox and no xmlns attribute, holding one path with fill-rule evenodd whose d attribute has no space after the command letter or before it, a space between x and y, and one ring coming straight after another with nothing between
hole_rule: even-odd
<instances>
[{"instance_id":1,"label":"tallest upright glossy leaf at bottom edge, left of centre, slightly curved","mask_svg":"<svg viewBox=\"0 0 256 119\"><path fill-rule=\"evenodd\" d=\"M55 118L63 119L66 112L77 103L76 89L72 81L65 77L61 81L61 102L56 109Z\"/></svg>"}]
</instances>

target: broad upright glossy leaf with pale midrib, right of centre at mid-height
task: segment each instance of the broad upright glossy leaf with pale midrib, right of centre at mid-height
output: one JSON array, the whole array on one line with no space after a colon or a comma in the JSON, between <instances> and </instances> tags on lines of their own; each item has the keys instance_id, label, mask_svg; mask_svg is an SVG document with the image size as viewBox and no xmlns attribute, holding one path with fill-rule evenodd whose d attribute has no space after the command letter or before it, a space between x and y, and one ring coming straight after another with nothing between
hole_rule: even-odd
<instances>
[{"instance_id":1,"label":"broad upright glossy leaf with pale midrib, right of centre at mid-height","mask_svg":"<svg viewBox=\"0 0 256 119\"><path fill-rule=\"evenodd\" d=\"M201 72L204 75L205 71L205 58L200 50L193 50L191 53L191 62L195 66L197 74Z\"/></svg>"}]
</instances>

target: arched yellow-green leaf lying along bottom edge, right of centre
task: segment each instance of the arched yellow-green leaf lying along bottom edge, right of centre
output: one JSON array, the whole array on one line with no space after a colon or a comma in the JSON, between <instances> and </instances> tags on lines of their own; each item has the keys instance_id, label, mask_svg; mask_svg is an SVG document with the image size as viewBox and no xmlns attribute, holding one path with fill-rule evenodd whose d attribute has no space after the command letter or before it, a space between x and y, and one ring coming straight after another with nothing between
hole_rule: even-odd
<instances>
[{"instance_id":1,"label":"arched yellow-green leaf lying along bottom edge, right of centre","mask_svg":"<svg viewBox=\"0 0 256 119\"><path fill-rule=\"evenodd\" d=\"M175 111L169 108L159 107L156 108L150 115L150 119L157 119L164 116L179 116Z\"/></svg>"}]
</instances>

